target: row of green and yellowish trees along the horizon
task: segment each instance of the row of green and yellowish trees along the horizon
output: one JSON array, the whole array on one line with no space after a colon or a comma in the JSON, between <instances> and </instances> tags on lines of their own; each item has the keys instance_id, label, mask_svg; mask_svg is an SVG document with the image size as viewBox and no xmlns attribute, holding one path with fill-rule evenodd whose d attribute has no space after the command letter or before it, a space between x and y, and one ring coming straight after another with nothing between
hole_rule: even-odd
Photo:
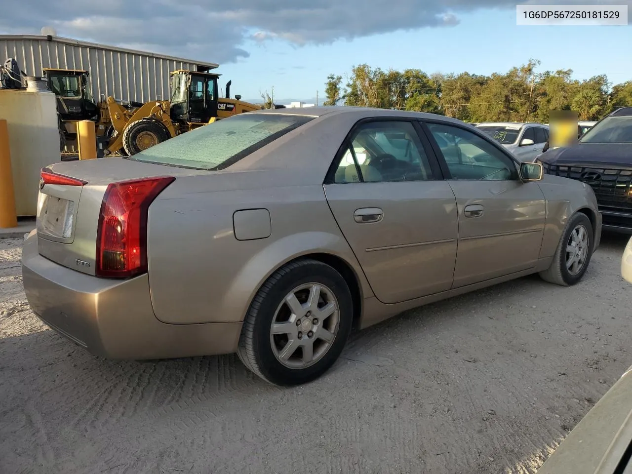
<instances>
[{"instance_id":1,"label":"row of green and yellowish trees along the horizon","mask_svg":"<svg viewBox=\"0 0 632 474\"><path fill-rule=\"evenodd\" d=\"M325 83L324 105L379 107L442 114L466 122L549 123L552 110L574 110L580 120L597 120L617 107L632 106L632 80L612 84L606 75L571 78L572 70L537 72L540 61L504 74L434 73L354 66Z\"/></svg>"}]
</instances>

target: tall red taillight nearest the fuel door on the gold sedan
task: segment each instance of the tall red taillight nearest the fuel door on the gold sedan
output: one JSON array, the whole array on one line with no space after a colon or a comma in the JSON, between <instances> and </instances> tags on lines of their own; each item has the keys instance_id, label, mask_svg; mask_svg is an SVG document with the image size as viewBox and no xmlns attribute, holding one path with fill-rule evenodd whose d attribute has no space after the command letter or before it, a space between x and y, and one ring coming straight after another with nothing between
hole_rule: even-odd
<instances>
[{"instance_id":1,"label":"tall red taillight nearest the fuel door on the gold sedan","mask_svg":"<svg viewBox=\"0 0 632 474\"><path fill-rule=\"evenodd\" d=\"M126 278L147 271L149 205L174 179L133 179L107 186L97 230L97 276Z\"/></svg>"}]
</instances>

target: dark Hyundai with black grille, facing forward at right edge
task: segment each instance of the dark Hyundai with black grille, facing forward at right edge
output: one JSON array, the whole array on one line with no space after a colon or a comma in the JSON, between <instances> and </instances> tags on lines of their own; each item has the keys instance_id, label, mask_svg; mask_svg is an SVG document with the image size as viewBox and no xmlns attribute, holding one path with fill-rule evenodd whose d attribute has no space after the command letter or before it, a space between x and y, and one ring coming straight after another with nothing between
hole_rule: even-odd
<instances>
[{"instance_id":1,"label":"dark Hyundai with black grille, facing forward at right edge","mask_svg":"<svg viewBox=\"0 0 632 474\"><path fill-rule=\"evenodd\" d=\"M590 185L597 195L604 229L632 233L632 107L599 121L572 147L537 158L544 172Z\"/></svg>"}]
</instances>

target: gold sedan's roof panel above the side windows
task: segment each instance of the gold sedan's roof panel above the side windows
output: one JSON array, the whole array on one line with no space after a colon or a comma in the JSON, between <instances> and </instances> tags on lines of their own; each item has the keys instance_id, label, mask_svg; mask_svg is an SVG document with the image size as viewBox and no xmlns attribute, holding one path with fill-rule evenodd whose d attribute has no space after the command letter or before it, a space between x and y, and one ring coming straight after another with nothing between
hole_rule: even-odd
<instances>
[{"instance_id":1,"label":"gold sedan's roof panel above the side windows","mask_svg":"<svg viewBox=\"0 0 632 474\"><path fill-rule=\"evenodd\" d=\"M298 115L305 117L323 117L339 114L355 114L358 119L370 117L402 117L417 119L435 119L455 124L464 124L460 120L438 114L428 114L426 112L401 111L394 109L375 109L372 107L348 107L348 106L319 106L319 107L287 107L284 109L264 109L248 112L248 114L284 114Z\"/></svg>"}]
</instances>

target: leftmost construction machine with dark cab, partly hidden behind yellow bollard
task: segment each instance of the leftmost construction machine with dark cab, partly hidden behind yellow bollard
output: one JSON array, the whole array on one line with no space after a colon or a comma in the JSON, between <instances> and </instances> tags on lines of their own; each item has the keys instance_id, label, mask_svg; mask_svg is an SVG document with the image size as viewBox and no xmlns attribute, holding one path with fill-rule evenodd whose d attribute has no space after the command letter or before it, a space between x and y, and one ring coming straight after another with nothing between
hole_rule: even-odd
<instances>
[{"instance_id":1,"label":"leftmost construction machine with dark cab, partly hidden behind yellow bollard","mask_svg":"<svg viewBox=\"0 0 632 474\"><path fill-rule=\"evenodd\" d=\"M98 123L100 109L90 90L90 73L84 70L44 68L49 90L57 96L57 111L61 118L62 151L76 147L77 122L92 120ZM99 128L97 127L97 130Z\"/></svg>"}]
</instances>

